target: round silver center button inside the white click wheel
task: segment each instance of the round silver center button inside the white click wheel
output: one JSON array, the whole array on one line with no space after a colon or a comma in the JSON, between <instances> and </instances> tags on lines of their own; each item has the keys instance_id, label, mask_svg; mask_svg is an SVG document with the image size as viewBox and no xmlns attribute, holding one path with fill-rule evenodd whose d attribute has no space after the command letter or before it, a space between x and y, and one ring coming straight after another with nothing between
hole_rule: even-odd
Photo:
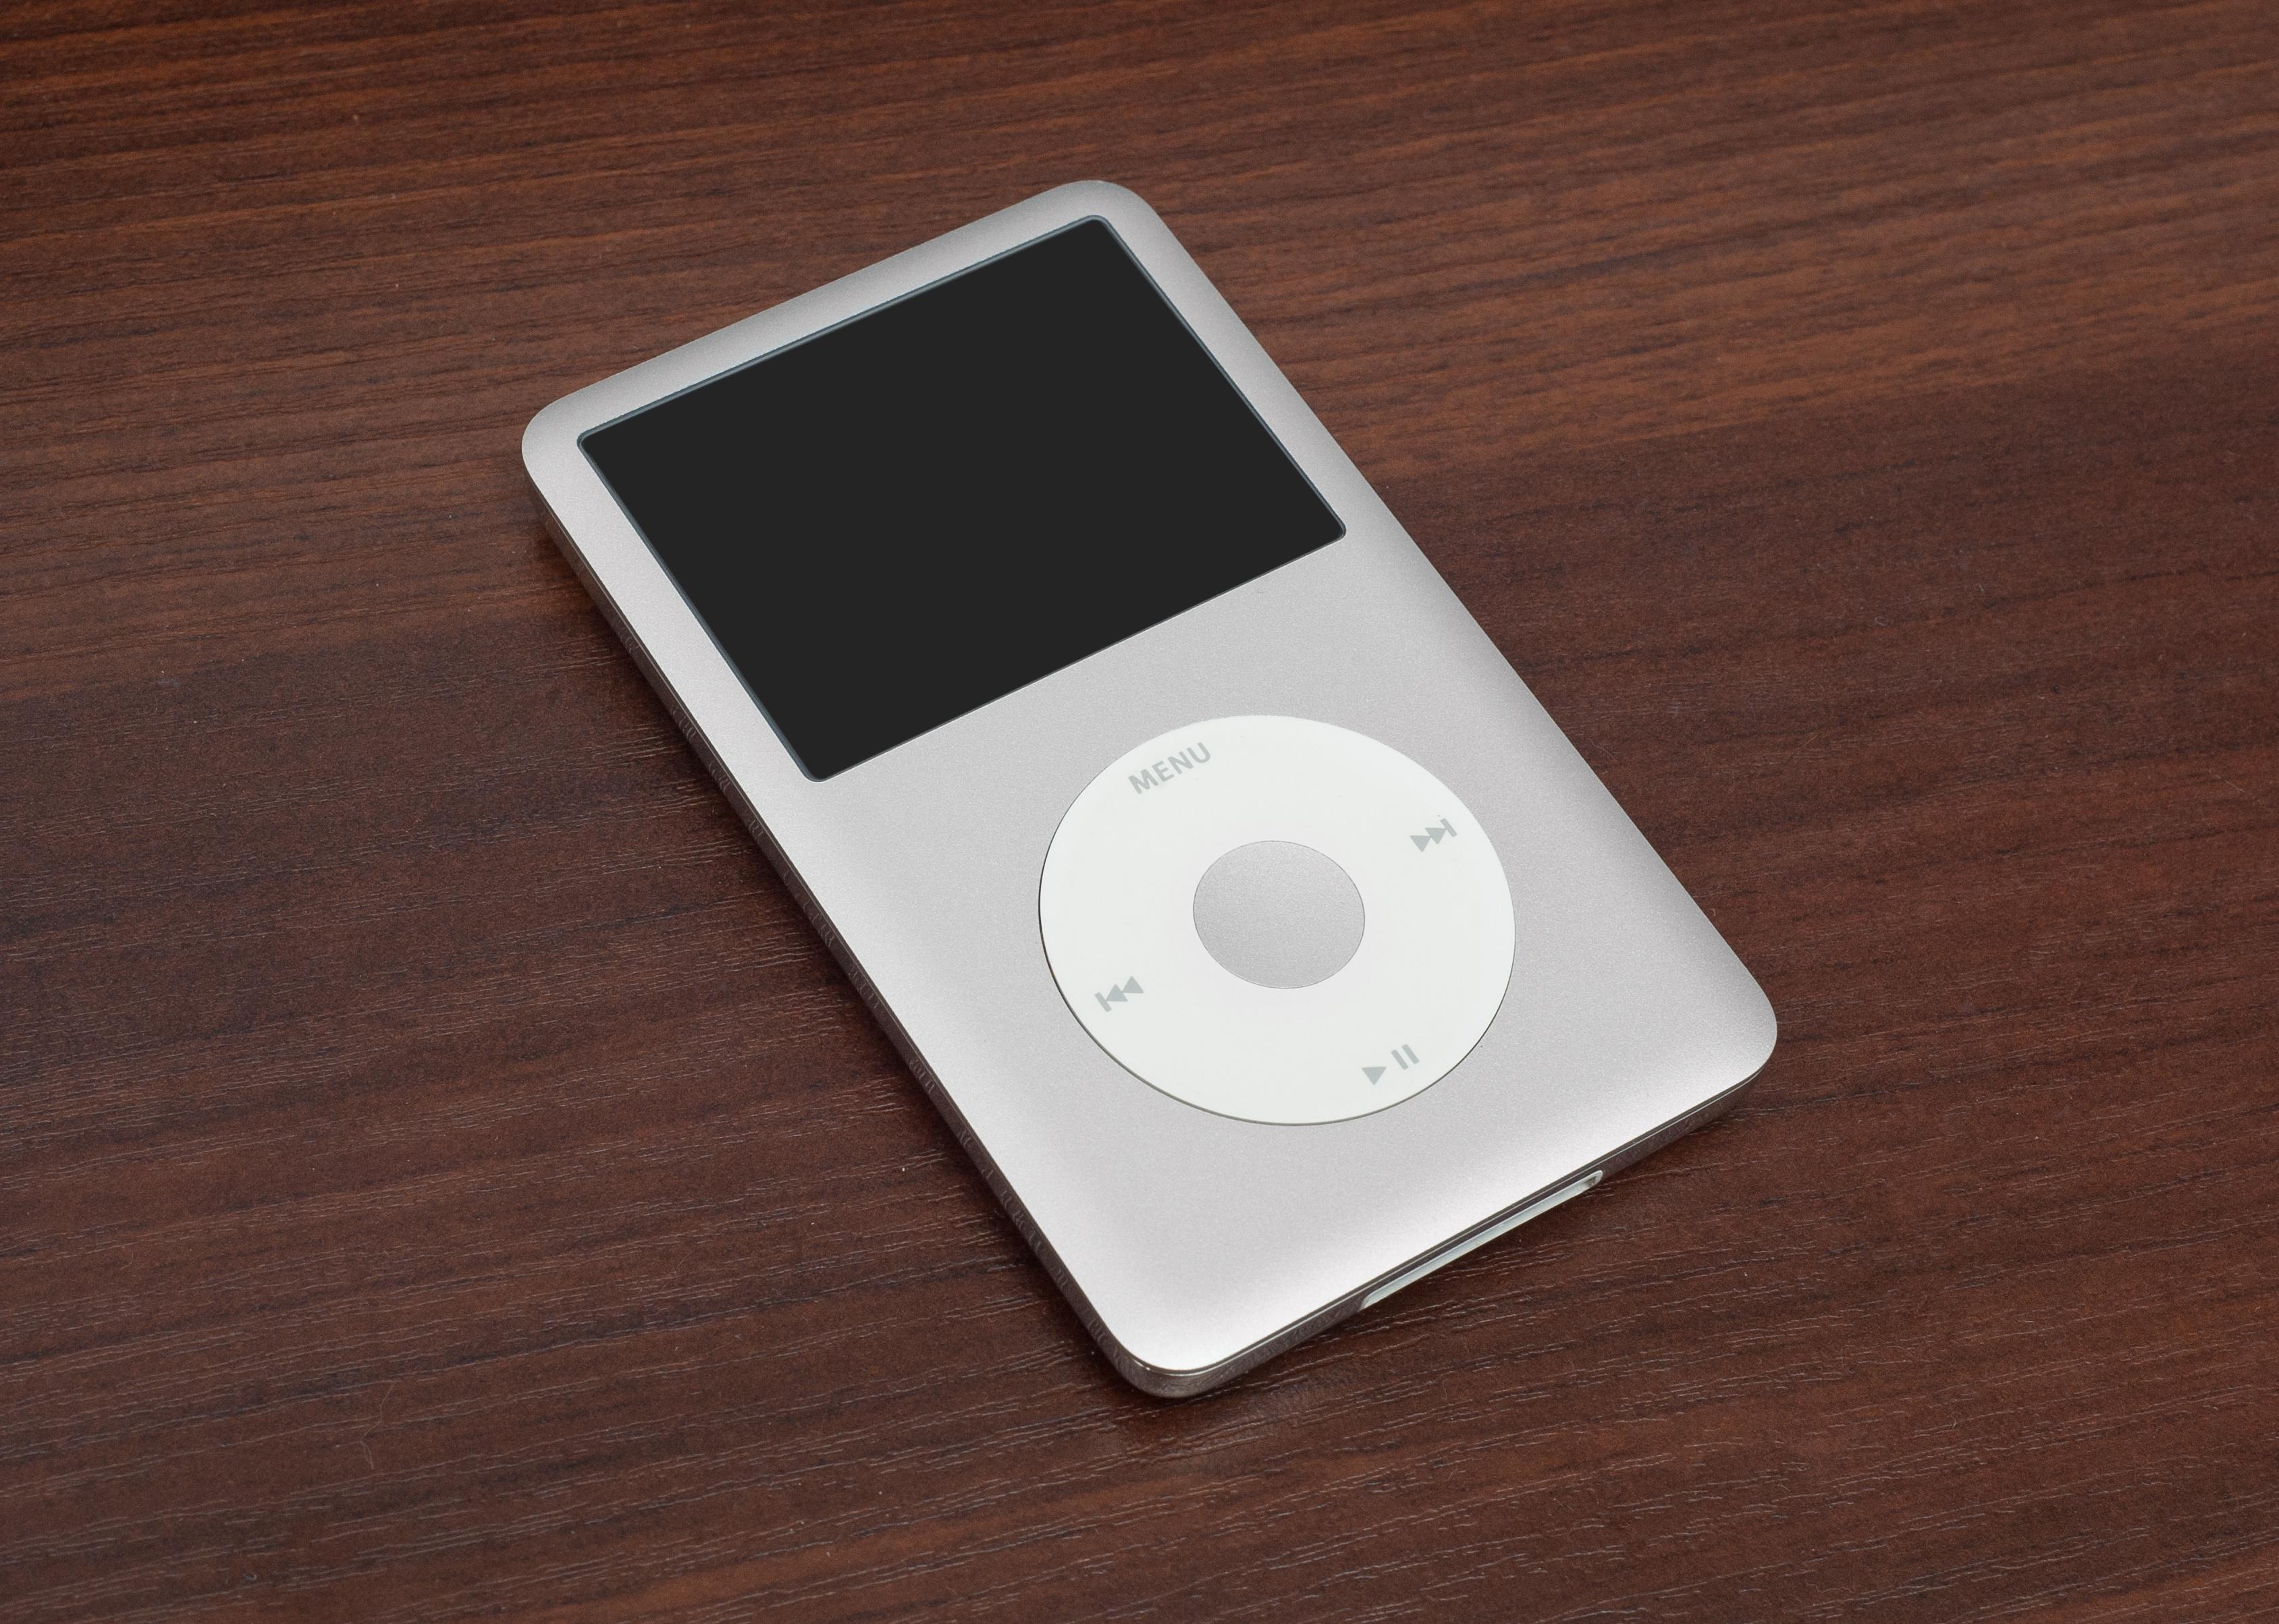
<instances>
[{"instance_id":1,"label":"round silver center button inside the white click wheel","mask_svg":"<svg viewBox=\"0 0 2279 1624\"><path fill-rule=\"evenodd\" d=\"M1361 948L1361 927L1351 877L1297 840L1237 845L1194 886L1194 934L1253 986L1326 982Z\"/></svg>"}]
</instances>

